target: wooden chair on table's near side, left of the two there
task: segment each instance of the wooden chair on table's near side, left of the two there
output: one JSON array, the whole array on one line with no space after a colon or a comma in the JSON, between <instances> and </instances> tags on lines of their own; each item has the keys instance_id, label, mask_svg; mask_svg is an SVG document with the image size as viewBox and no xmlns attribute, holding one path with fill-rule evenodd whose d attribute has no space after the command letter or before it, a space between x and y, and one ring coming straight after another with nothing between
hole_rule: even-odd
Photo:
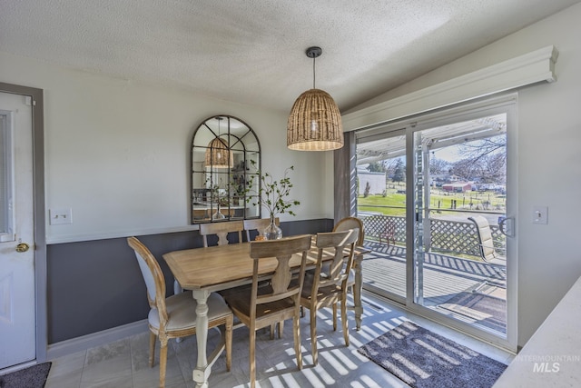
<instances>
[{"instance_id":1,"label":"wooden chair on table's near side, left of the two there","mask_svg":"<svg viewBox=\"0 0 581 388\"><path fill-rule=\"evenodd\" d=\"M263 327L292 318L294 352L299 369L302 369L300 353L300 292L304 281L307 254L310 251L309 235L251 242L250 255L254 260L252 286L238 293L229 293L226 302L234 314L250 328L251 387L256 384L256 331ZM291 265L293 254L300 254L300 270L296 282L291 282L295 272ZM296 256L294 260L297 260ZM269 266L273 274L268 285L259 286L259 268Z\"/></svg>"}]
</instances>

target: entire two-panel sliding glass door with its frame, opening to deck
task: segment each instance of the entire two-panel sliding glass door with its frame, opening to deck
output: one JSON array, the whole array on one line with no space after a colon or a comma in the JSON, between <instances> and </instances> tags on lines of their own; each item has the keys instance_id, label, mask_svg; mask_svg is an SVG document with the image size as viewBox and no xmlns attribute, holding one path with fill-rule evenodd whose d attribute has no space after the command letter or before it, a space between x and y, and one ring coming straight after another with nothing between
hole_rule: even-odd
<instances>
[{"instance_id":1,"label":"entire two-panel sliding glass door with its frame, opening to deck","mask_svg":"<svg viewBox=\"0 0 581 388\"><path fill-rule=\"evenodd\" d=\"M510 349L515 109L510 96L461 106L361 132L357 145L365 288Z\"/></svg>"}]
</instances>

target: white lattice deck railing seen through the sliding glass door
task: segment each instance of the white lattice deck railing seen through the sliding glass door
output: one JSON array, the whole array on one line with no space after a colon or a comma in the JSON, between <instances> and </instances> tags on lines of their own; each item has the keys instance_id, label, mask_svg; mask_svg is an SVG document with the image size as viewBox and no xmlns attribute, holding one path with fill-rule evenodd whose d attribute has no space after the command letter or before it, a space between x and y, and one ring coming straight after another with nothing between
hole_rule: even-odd
<instances>
[{"instance_id":1,"label":"white lattice deck railing seen through the sliding glass door","mask_svg":"<svg viewBox=\"0 0 581 388\"><path fill-rule=\"evenodd\" d=\"M395 225L394 239L396 243L406 241L406 218L394 215L373 214L360 217L365 227L365 238L379 240L386 226ZM469 221L450 221L438 218L430 218L430 249L439 252L455 254L480 255L478 246L478 231L476 226ZM491 224L490 231L500 248L504 236L500 233L498 225Z\"/></svg>"}]
</instances>

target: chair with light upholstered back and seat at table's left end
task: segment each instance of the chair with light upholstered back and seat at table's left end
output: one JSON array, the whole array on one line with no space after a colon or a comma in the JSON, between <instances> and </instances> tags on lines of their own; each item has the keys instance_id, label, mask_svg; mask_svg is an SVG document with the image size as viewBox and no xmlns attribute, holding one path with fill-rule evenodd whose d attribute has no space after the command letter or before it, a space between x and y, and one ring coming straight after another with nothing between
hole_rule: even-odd
<instances>
[{"instance_id":1,"label":"chair with light upholstered back and seat at table's left end","mask_svg":"<svg viewBox=\"0 0 581 388\"><path fill-rule=\"evenodd\" d=\"M153 367L156 338L160 340L160 387L165 386L165 367L167 362L167 343L171 338L186 337L196 333L197 303L191 292L178 293L165 297L165 280L162 269L150 250L137 238L127 238L127 244L135 251L137 263L147 288L150 305L148 314L150 343L149 365ZM221 328L222 340L226 347L226 368L231 369L233 314L218 293L208 297L208 327Z\"/></svg>"}]
</instances>

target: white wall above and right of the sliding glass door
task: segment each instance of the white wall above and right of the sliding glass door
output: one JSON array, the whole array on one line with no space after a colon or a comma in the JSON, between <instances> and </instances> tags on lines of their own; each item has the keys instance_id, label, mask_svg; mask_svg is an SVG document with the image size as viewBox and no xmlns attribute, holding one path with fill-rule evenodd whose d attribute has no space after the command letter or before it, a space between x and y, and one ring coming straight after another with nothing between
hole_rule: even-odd
<instances>
[{"instance_id":1,"label":"white wall above and right of the sliding glass door","mask_svg":"<svg viewBox=\"0 0 581 388\"><path fill-rule=\"evenodd\" d=\"M557 81L518 92L518 344L523 345L581 275L581 4L370 100L430 85L555 45ZM535 205L548 224L532 224Z\"/></svg>"}]
</instances>

